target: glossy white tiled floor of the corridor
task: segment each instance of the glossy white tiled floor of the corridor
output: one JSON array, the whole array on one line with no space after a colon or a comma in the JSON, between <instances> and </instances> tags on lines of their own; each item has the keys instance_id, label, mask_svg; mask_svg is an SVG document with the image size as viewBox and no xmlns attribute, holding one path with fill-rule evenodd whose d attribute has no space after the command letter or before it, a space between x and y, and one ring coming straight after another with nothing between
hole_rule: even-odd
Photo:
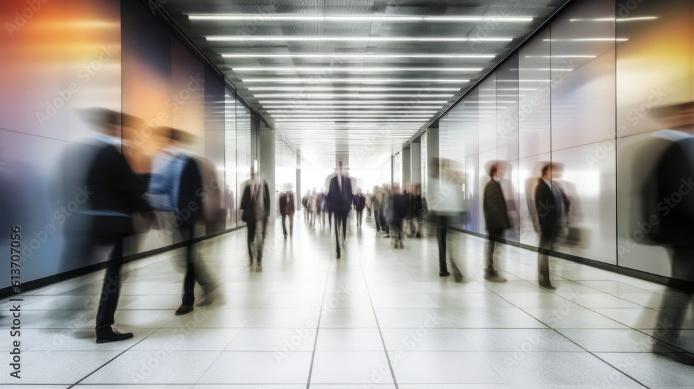
<instances>
[{"instance_id":1,"label":"glossy white tiled floor of the corridor","mask_svg":"<svg viewBox=\"0 0 694 389\"><path fill-rule=\"evenodd\" d=\"M189 315L174 316L183 251L126 265L116 328L135 338L124 342L94 342L103 272L26 293L21 384L694 388L694 367L678 362L694 352L691 295L558 259L557 289L545 290L537 254L509 246L499 258L509 281L489 283L484 240L461 233L448 244L462 279L440 278L434 238L393 249L371 220L352 225L338 260L327 227L296 222L287 240L271 229L262 272L248 266L245 230L198 245L221 299ZM0 326L7 353L8 317ZM9 374L0 383L17 387Z\"/></svg>"}]
</instances>

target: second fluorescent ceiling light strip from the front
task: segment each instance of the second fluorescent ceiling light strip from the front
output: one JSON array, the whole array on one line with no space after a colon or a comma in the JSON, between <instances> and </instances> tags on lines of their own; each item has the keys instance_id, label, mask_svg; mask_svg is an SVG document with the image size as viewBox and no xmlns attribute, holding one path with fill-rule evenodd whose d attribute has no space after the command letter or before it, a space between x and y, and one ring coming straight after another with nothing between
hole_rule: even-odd
<instances>
[{"instance_id":1,"label":"second fluorescent ceiling light strip from the front","mask_svg":"<svg viewBox=\"0 0 694 389\"><path fill-rule=\"evenodd\" d=\"M312 36L208 36L212 42L511 42L513 38L450 37L312 37Z\"/></svg>"}]
</instances>

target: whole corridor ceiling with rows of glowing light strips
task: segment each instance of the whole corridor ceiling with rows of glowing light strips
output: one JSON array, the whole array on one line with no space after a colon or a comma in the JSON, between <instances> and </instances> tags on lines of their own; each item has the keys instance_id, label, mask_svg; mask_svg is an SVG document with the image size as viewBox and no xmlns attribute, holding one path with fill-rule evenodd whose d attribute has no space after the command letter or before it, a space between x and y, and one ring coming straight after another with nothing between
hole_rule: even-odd
<instances>
[{"instance_id":1,"label":"whole corridor ceiling with rows of glowing light strips","mask_svg":"<svg viewBox=\"0 0 694 389\"><path fill-rule=\"evenodd\" d=\"M378 168L566 0L171 0L165 10L314 167Z\"/></svg>"}]
</instances>

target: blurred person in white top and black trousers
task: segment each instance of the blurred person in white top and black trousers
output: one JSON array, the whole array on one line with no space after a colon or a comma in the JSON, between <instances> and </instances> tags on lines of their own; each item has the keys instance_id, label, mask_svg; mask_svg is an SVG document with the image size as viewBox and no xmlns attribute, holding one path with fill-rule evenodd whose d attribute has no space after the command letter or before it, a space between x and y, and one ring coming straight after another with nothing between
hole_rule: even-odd
<instances>
[{"instance_id":1,"label":"blurred person in white top and black trousers","mask_svg":"<svg viewBox=\"0 0 694 389\"><path fill-rule=\"evenodd\" d=\"M462 179L447 159L434 158L431 188L436 198L430 202L430 210L437 219L437 242L439 245L439 276L449 276L446 264L446 235L448 226L457 223L464 212L465 201Z\"/></svg>"}]
</instances>

